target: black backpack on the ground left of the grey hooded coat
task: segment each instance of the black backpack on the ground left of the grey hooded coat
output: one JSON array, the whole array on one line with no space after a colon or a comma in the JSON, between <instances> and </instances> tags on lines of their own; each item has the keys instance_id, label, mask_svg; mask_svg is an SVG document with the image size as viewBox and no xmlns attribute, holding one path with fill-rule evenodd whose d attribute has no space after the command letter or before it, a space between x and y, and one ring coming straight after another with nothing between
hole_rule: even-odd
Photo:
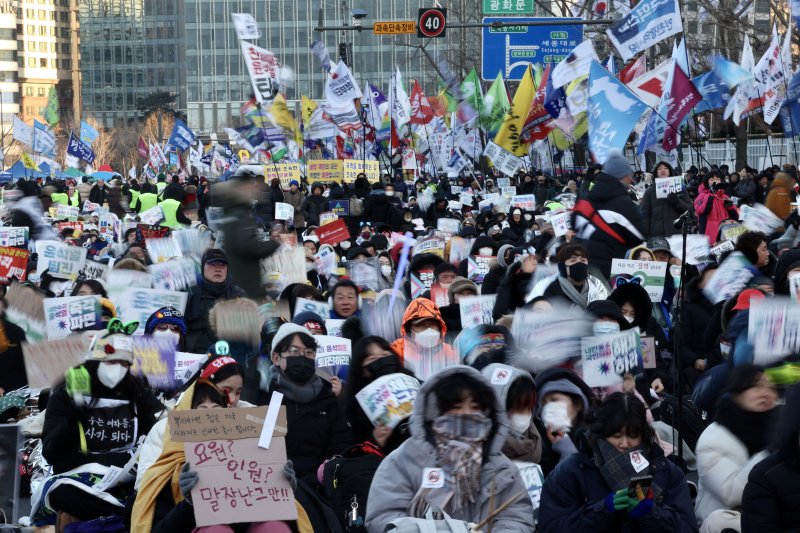
<instances>
[{"instance_id":1,"label":"black backpack on the ground left of the grey hooded coat","mask_svg":"<svg viewBox=\"0 0 800 533\"><path fill-rule=\"evenodd\" d=\"M346 531L366 532L369 487L384 457L378 446L364 442L325 463L322 487Z\"/></svg>"}]
</instances>

